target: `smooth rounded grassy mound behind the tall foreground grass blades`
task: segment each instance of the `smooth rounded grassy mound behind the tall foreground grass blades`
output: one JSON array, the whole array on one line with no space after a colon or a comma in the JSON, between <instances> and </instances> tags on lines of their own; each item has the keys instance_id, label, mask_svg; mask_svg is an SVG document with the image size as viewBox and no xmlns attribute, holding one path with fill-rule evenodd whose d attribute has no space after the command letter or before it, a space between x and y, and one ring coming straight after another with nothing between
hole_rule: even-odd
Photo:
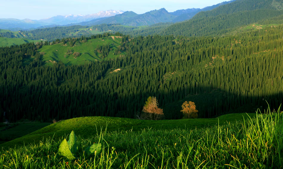
<instances>
[{"instance_id":1,"label":"smooth rounded grassy mound behind the tall foreground grass blades","mask_svg":"<svg viewBox=\"0 0 283 169\"><path fill-rule=\"evenodd\" d=\"M249 114L249 116L254 117L254 114ZM74 130L77 135L89 137L97 134L97 131L99 131L100 128L104 130L106 125L108 131L140 131L144 128L154 128L157 130L171 130L174 128L191 129L215 125L218 123L218 120L219 124L224 124L226 121L234 122L236 120L242 120L243 117L247 117L247 114L226 114L214 119L181 119L160 121L136 120L118 117L78 117L46 126L24 137L1 144L0 146L7 148L14 147L15 145L23 145L24 143L38 143L39 140L42 140L43 138L60 138L69 134L72 130Z\"/></svg>"}]
</instances>

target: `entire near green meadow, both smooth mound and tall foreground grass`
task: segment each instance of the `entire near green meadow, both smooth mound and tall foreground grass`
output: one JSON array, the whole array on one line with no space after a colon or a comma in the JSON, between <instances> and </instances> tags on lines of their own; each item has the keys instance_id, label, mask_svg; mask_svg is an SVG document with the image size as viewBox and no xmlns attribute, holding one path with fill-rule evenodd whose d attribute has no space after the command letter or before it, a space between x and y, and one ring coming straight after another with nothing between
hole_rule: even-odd
<instances>
[{"instance_id":1,"label":"entire near green meadow, both smooth mound and tall foreground grass","mask_svg":"<svg viewBox=\"0 0 283 169\"><path fill-rule=\"evenodd\" d=\"M270 110L161 121L80 117L2 144L0 168L282 168L282 128L283 113ZM69 160L58 148L72 130L78 150ZM102 151L85 154L93 142Z\"/></svg>"}]
</instances>

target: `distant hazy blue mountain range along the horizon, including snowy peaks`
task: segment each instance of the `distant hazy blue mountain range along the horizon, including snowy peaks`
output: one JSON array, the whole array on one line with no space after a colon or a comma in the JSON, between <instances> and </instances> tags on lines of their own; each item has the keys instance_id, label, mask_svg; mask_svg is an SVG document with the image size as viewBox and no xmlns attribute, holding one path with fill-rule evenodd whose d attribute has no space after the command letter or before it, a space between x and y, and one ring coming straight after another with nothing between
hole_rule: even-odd
<instances>
[{"instance_id":1,"label":"distant hazy blue mountain range along the horizon, including snowy peaks","mask_svg":"<svg viewBox=\"0 0 283 169\"><path fill-rule=\"evenodd\" d=\"M225 1L203 9L189 8L185 10L177 10L175 12L168 12L166 9L161 8L143 14L137 14L133 11L124 12L122 10L108 10L90 15L57 15L40 20L2 18L0 19L0 29L16 31L71 25L92 26L97 24L121 24L127 26L144 26L161 22L175 23L188 20L201 11L211 10L223 4L231 3L232 1Z\"/></svg>"}]
</instances>

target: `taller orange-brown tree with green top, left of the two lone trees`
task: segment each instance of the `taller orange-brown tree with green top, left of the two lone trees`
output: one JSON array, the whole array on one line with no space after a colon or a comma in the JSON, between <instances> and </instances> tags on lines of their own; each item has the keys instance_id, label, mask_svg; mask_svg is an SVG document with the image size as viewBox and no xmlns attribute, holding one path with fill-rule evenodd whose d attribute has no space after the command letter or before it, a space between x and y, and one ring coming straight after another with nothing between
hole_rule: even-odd
<instances>
[{"instance_id":1,"label":"taller orange-brown tree with green top, left of the two lone trees","mask_svg":"<svg viewBox=\"0 0 283 169\"><path fill-rule=\"evenodd\" d=\"M141 118L144 120L161 120L164 118L163 109L158 108L156 97L148 97L142 109Z\"/></svg>"}]
</instances>

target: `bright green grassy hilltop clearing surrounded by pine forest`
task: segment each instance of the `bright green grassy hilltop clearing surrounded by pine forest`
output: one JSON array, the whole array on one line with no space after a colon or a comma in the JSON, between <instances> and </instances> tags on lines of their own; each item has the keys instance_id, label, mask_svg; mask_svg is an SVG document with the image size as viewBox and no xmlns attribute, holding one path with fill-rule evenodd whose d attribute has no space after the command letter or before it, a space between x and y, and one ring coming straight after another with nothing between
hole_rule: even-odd
<instances>
[{"instance_id":1,"label":"bright green grassy hilltop clearing surrounded by pine forest","mask_svg":"<svg viewBox=\"0 0 283 169\"><path fill-rule=\"evenodd\" d=\"M105 59L112 59L118 57L119 55L124 55L124 53L115 55L114 50L120 46L122 43L122 38L98 38L91 39L85 43L76 43L74 46L70 46L69 42L65 45L63 43L43 46L38 52L41 52L43 61L47 64L52 65L55 62L62 61L66 65L79 65L90 61L101 61L101 55L96 51L97 46L110 44L111 50ZM71 51L79 52L81 55L79 57L74 57L73 54L67 55L67 52Z\"/></svg>"}]
</instances>

